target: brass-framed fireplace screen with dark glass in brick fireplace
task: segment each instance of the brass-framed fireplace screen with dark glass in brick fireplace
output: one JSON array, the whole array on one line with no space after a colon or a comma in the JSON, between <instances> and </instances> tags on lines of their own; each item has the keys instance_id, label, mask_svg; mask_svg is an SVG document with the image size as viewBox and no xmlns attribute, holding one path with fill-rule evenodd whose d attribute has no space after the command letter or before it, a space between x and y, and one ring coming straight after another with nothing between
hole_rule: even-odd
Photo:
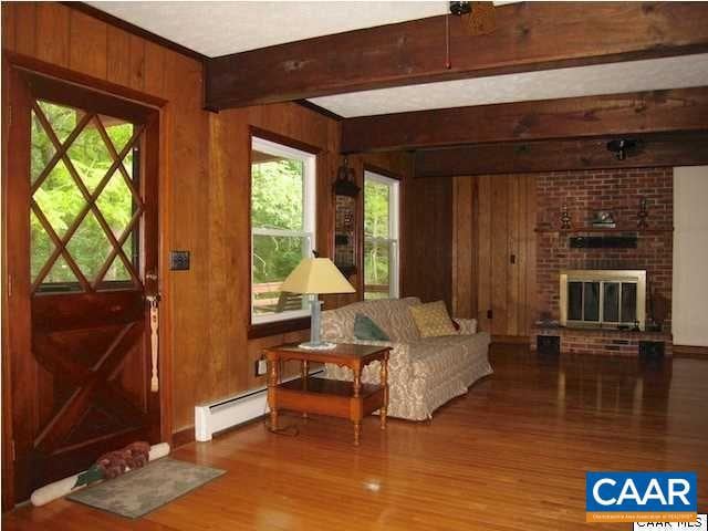
<instances>
[{"instance_id":1,"label":"brass-framed fireplace screen with dark glass in brick fireplace","mask_svg":"<svg viewBox=\"0 0 708 531\"><path fill-rule=\"evenodd\" d=\"M561 272L561 324L644 330L646 271Z\"/></svg>"}]
</instances>

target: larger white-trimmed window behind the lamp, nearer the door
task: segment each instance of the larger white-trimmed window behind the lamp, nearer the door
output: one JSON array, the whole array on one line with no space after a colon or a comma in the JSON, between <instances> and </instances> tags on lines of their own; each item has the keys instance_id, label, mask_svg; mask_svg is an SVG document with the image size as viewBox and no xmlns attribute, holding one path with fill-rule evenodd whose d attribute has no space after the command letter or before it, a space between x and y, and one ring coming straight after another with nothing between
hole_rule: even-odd
<instances>
[{"instance_id":1,"label":"larger white-trimmed window behind the lamp, nearer the door","mask_svg":"<svg viewBox=\"0 0 708 531\"><path fill-rule=\"evenodd\" d=\"M280 290L315 241L315 156L253 137L251 144L251 323L310 315Z\"/></svg>"}]
</instances>

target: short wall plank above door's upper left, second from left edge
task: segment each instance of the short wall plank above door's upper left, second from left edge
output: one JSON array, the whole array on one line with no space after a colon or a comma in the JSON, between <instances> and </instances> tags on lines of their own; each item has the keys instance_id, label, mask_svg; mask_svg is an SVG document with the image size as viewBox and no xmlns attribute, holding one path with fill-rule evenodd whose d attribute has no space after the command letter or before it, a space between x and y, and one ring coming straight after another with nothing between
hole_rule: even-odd
<instances>
[{"instance_id":1,"label":"short wall plank above door's upper left, second from left edge","mask_svg":"<svg viewBox=\"0 0 708 531\"><path fill-rule=\"evenodd\" d=\"M37 4L37 58L69 66L69 11L54 2Z\"/></svg>"}]
</instances>

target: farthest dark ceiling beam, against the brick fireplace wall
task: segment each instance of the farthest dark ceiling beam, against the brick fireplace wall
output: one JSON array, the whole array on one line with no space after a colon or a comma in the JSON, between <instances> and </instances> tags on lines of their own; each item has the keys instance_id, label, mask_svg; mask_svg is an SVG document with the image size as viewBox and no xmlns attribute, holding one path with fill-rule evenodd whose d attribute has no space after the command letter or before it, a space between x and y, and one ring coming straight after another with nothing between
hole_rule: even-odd
<instances>
[{"instance_id":1,"label":"farthest dark ceiling beam, against the brick fireplace wall","mask_svg":"<svg viewBox=\"0 0 708 531\"><path fill-rule=\"evenodd\" d=\"M708 127L708 124L706 124ZM618 160L607 150L617 138L507 142L416 152L416 177L525 174L534 171L697 166L708 164L708 129L691 133L632 135L639 153Z\"/></svg>"}]
</instances>

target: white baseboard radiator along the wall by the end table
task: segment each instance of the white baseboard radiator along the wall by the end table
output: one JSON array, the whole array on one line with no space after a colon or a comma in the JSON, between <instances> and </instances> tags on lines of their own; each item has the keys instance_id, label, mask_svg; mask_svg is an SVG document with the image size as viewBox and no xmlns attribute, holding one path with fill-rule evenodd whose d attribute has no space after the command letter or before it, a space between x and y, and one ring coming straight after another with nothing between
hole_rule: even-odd
<instances>
[{"instance_id":1,"label":"white baseboard radiator along the wall by the end table","mask_svg":"<svg viewBox=\"0 0 708 531\"><path fill-rule=\"evenodd\" d=\"M321 368L310 372L310 376L322 374ZM284 378L295 379L299 376ZM211 440L219 431L233 428L269 413L268 387L242 393L230 398L195 406L195 439L200 442Z\"/></svg>"}]
</instances>

